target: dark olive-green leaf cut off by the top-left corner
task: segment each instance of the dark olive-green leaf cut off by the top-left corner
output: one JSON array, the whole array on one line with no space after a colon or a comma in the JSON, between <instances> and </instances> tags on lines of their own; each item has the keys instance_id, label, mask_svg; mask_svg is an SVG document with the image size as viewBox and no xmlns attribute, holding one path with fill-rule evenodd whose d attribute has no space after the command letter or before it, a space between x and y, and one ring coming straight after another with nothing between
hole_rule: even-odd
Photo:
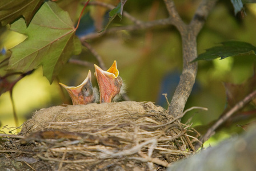
<instances>
[{"instance_id":1,"label":"dark olive-green leaf cut off by the top-left corner","mask_svg":"<svg viewBox=\"0 0 256 171\"><path fill-rule=\"evenodd\" d=\"M34 14L42 5L43 0L1 0L0 1L0 22L5 26L15 19L24 17L29 25Z\"/></svg>"}]
</instances>

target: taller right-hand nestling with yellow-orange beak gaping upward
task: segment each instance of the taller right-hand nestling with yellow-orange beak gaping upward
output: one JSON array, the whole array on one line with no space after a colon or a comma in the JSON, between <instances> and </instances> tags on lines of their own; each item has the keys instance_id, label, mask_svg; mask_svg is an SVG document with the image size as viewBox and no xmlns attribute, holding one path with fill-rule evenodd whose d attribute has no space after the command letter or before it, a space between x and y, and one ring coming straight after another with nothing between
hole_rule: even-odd
<instances>
[{"instance_id":1,"label":"taller right-hand nestling with yellow-orange beak gaping upward","mask_svg":"<svg viewBox=\"0 0 256 171\"><path fill-rule=\"evenodd\" d=\"M113 98L120 92L122 87L122 79L117 70L117 62L107 71L103 71L100 67L94 64L95 76L99 85L99 101L100 103L110 103Z\"/></svg>"}]
</instances>

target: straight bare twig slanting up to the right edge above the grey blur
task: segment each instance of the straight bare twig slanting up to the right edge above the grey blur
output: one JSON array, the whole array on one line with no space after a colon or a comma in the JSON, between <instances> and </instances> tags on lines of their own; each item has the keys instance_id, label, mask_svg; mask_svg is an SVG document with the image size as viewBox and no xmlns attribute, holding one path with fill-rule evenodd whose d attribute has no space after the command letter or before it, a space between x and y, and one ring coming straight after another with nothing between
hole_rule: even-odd
<instances>
[{"instance_id":1,"label":"straight bare twig slanting up to the right edge above the grey blur","mask_svg":"<svg viewBox=\"0 0 256 171\"><path fill-rule=\"evenodd\" d=\"M217 129L221 124L225 123L229 117L231 117L235 112L239 111L243 107L245 107L246 104L248 104L251 100L253 100L256 97L256 90L251 92L248 96L245 97L245 99L239 101L237 104L234 105L233 108L231 108L225 115L220 117L215 124L213 124L201 137L202 143L204 143L206 140L208 140L212 135L214 135L215 129ZM200 145L197 145L196 148L198 149Z\"/></svg>"}]
</instances>

